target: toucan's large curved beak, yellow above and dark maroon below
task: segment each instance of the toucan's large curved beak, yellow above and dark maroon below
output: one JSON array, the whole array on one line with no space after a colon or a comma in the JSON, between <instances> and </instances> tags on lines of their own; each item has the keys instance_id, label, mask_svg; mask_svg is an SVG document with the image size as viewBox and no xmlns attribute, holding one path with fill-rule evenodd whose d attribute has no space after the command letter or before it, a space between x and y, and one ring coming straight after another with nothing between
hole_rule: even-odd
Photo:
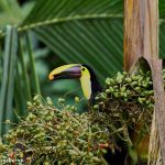
<instances>
[{"instance_id":1,"label":"toucan's large curved beak, yellow above and dark maroon below","mask_svg":"<svg viewBox=\"0 0 165 165\"><path fill-rule=\"evenodd\" d=\"M75 79L81 77L81 65L69 64L55 68L48 75L50 80L56 79Z\"/></svg>"}]
</instances>

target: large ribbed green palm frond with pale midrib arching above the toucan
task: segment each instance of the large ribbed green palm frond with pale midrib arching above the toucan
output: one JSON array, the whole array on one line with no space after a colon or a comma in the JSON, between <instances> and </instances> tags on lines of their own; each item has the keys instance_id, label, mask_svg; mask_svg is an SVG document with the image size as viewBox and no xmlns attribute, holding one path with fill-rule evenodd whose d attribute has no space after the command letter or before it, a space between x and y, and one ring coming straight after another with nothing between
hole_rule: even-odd
<instances>
[{"instance_id":1,"label":"large ribbed green palm frond with pale midrib arching above the toucan","mask_svg":"<svg viewBox=\"0 0 165 165\"><path fill-rule=\"evenodd\" d=\"M66 63L90 65L103 81L122 70L122 3L40 0L19 31L32 29L55 55Z\"/></svg>"}]
</instances>

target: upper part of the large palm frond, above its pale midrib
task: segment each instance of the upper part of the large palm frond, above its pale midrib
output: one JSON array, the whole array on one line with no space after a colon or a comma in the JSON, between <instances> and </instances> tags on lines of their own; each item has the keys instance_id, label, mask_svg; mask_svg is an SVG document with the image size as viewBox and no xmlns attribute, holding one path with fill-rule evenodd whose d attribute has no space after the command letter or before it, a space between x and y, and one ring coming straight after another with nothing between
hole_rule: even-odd
<instances>
[{"instance_id":1,"label":"upper part of the large palm frond, above its pale midrib","mask_svg":"<svg viewBox=\"0 0 165 165\"><path fill-rule=\"evenodd\" d=\"M44 4L44 6L43 6ZM53 22L122 16L122 0L40 0L24 22L36 26Z\"/></svg>"}]
</instances>

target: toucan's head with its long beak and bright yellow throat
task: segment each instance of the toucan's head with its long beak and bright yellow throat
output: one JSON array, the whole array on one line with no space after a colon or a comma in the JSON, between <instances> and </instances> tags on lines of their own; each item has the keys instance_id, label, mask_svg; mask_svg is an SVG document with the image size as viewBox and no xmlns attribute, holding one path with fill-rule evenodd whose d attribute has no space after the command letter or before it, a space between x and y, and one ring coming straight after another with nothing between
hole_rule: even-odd
<instances>
[{"instance_id":1,"label":"toucan's head with its long beak and bright yellow throat","mask_svg":"<svg viewBox=\"0 0 165 165\"><path fill-rule=\"evenodd\" d=\"M91 97L91 72L87 68L87 66L81 64L69 64L55 68L48 75L50 80L56 79L80 79L81 88L84 96L87 99Z\"/></svg>"}]
</instances>

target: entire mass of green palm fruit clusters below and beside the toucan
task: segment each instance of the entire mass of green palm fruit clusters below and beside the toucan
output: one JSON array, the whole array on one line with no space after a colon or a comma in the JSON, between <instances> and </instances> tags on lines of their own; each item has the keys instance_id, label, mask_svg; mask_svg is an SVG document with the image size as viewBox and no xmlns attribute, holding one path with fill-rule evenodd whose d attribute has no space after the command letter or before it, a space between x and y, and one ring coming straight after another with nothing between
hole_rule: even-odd
<instances>
[{"instance_id":1,"label":"entire mass of green palm fruit clusters below and beside the toucan","mask_svg":"<svg viewBox=\"0 0 165 165\"><path fill-rule=\"evenodd\" d=\"M14 128L3 138L1 158L30 164L106 164L107 148L114 154L124 148L136 162L135 148L150 131L154 106L150 72L118 73L106 79L105 90L95 99L94 108L90 105L88 112L79 114L76 111L81 100L77 97L73 106L59 98L56 108L51 98L35 96L33 102L28 101L26 117L18 117L19 124L7 121ZM138 124L142 125L139 130ZM135 143L132 129L139 132Z\"/></svg>"}]
</instances>

